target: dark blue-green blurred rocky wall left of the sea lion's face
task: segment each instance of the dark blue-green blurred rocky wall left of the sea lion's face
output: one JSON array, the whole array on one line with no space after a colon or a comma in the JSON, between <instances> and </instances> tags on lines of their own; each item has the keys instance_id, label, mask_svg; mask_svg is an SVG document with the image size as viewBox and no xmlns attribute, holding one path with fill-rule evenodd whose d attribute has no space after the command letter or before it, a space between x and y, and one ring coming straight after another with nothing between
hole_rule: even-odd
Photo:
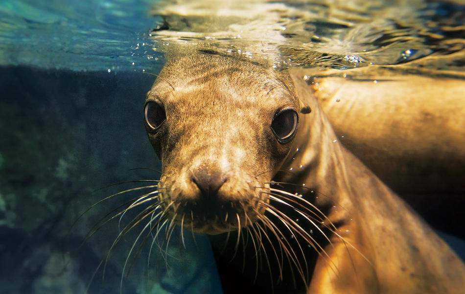
<instances>
[{"instance_id":1,"label":"dark blue-green blurred rocky wall left of the sea lion's face","mask_svg":"<svg viewBox=\"0 0 465 294\"><path fill-rule=\"evenodd\" d=\"M205 236L184 234L185 249L179 231L168 247L163 235L150 255L149 236L127 258L142 224L107 258L137 211L119 228L119 217L105 221L140 191L86 212L153 183L105 186L158 179L142 113L153 81L131 72L0 68L0 293L221 293ZM131 170L138 168L147 169Z\"/></svg>"}]
</instances>

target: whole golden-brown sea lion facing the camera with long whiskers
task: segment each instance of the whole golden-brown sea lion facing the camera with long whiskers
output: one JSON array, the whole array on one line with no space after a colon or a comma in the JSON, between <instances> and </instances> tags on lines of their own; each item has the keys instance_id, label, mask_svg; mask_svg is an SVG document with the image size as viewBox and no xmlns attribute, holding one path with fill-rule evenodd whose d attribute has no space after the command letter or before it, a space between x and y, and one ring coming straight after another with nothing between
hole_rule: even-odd
<instances>
[{"instance_id":1,"label":"whole golden-brown sea lion facing the camera with long whiskers","mask_svg":"<svg viewBox=\"0 0 465 294\"><path fill-rule=\"evenodd\" d=\"M144 112L158 223L212 235L225 293L461 292L464 264L340 144L304 83L227 56L169 59Z\"/></svg>"}]
</instances>

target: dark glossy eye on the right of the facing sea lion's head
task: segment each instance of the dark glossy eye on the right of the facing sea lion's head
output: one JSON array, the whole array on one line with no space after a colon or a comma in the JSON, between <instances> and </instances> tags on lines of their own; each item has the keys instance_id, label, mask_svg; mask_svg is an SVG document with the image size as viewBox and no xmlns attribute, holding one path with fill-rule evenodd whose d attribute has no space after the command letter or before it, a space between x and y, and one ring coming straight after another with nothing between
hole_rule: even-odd
<instances>
[{"instance_id":1,"label":"dark glossy eye on the right of the facing sea lion's head","mask_svg":"<svg viewBox=\"0 0 465 294\"><path fill-rule=\"evenodd\" d=\"M297 130L297 112L293 109L284 109L275 114L271 121L271 130L279 143L284 144L292 139Z\"/></svg>"}]
</instances>

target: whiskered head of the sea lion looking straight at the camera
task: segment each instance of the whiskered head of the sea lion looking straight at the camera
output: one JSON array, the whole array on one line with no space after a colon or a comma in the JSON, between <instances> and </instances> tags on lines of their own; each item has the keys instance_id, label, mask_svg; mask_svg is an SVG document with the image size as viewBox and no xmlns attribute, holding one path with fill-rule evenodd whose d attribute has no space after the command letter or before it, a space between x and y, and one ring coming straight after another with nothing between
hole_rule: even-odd
<instances>
[{"instance_id":1,"label":"whiskered head of the sea lion looking straight at the camera","mask_svg":"<svg viewBox=\"0 0 465 294\"><path fill-rule=\"evenodd\" d=\"M162 162L166 218L208 234L260 219L298 127L299 102L285 77L225 56L171 58L144 113Z\"/></svg>"}]
</instances>

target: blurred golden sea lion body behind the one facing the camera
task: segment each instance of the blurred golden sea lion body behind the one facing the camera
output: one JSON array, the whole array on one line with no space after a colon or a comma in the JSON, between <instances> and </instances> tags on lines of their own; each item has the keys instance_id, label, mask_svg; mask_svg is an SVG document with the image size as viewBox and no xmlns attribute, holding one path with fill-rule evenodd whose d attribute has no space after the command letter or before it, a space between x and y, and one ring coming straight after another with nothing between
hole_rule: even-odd
<instances>
[{"instance_id":1,"label":"blurred golden sea lion body behind the one facing the camera","mask_svg":"<svg viewBox=\"0 0 465 294\"><path fill-rule=\"evenodd\" d=\"M306 77L349 151L429 223L465 237L463 73L412 64L291 71Z\"/></svg>"}]
</instances>

